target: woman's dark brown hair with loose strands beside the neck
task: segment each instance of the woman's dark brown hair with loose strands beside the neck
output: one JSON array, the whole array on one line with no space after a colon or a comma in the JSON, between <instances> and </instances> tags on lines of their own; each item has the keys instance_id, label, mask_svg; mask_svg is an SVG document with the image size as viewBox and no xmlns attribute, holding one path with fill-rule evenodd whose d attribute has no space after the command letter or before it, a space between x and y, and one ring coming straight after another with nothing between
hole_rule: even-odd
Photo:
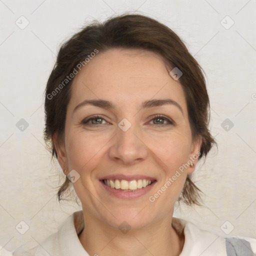
<instances>
[{"instance_id":1,"label":"woman's dark brown hair with loose strands beside the neck","mask_svg":"<svg viewBox=\"0 0 256 256\"><path fill-rule=\"evenodd\" d=\"M52 143L53 135L57 135L56 143L63 141L66 108L73 80L69 74L77 70L78 63L84 63L85 58L95 52L95 49L102 52L111 48L149 50L162 56L169 68L178 67L181 70L183 74L179 82L185 93L192 137L202 138L198 158L206 156L216 142L208 130L209 98L200 65L177 34L164 24L141 14L122 14L103 23L93 21L82 27L64 42L58 51L55 65L47 81L44 104L44 139L52 157L57 158ZM58 200L63 199L63 193L68 190L70 183L66 177L58 190ZM201 205L198 191L202 192L188 174L178 201L181 200L188 205Z\"/></svg>"}]
</instances>

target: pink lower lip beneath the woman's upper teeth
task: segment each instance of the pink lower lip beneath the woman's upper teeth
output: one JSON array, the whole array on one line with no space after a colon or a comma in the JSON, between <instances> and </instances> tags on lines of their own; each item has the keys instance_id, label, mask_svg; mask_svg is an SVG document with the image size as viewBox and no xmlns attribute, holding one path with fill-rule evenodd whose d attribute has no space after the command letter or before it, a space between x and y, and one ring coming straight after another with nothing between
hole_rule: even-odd
<instances>
[{"instance_id":1,"label":"pink lower lip beneath the woman's upper teeth","mask_svg":"<svg viewBox=\"0 0 256 256\"><path fill-rule=\"evenodd\" d=\"M105 188L105 190L107 192L109 192L110 194L121 198L121 199L135 199L138 198L142 195L145 195L149 190L152 189L152 187L155 185L156 181L154 181L153 183L151 183L149 186L140 188L133 191L122 191L122 190L117 190L115 188L112 188L108 185L106 185L102 180L100 180L100 183L103 185L103 187Z\"/></svg>"}]
</instances>

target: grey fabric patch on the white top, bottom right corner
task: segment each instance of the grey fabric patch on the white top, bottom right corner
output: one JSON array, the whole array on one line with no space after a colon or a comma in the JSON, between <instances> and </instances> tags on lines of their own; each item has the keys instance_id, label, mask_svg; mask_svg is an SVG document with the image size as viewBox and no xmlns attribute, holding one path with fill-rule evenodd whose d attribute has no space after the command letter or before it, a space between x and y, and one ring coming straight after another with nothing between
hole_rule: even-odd
<instances>
[{"instance_id":1,"label":"grey fabric patch on the white top, bottom right corner","mask_svg":"<svg viewBox=\"0 0 256 256\"><path fill-rule=\"evenodd\" d=\"M227 256L255 256L250 243L244 239L225 237Z\"/></svg>"}]
</instances>

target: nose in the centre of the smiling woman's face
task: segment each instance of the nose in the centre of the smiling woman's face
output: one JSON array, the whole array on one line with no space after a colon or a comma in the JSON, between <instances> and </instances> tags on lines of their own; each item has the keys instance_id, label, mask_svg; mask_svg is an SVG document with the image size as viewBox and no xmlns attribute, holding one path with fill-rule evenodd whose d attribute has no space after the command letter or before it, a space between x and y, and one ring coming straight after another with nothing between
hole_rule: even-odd
<instances>
[{"instance_id":1,"label":"nose in the centre of the smiling woman's face","mask_svg":"<svg viewBox=\"0 0 256 256\"><path fill-rule=\"evenodd\" d=\"M116 135L113 137L109 149L109 157L126 165L145 159L148 148L139 128L135 128L135 125L132 124L126 131L124 130L117 127Z\"/></svg>"}]
</instances>

